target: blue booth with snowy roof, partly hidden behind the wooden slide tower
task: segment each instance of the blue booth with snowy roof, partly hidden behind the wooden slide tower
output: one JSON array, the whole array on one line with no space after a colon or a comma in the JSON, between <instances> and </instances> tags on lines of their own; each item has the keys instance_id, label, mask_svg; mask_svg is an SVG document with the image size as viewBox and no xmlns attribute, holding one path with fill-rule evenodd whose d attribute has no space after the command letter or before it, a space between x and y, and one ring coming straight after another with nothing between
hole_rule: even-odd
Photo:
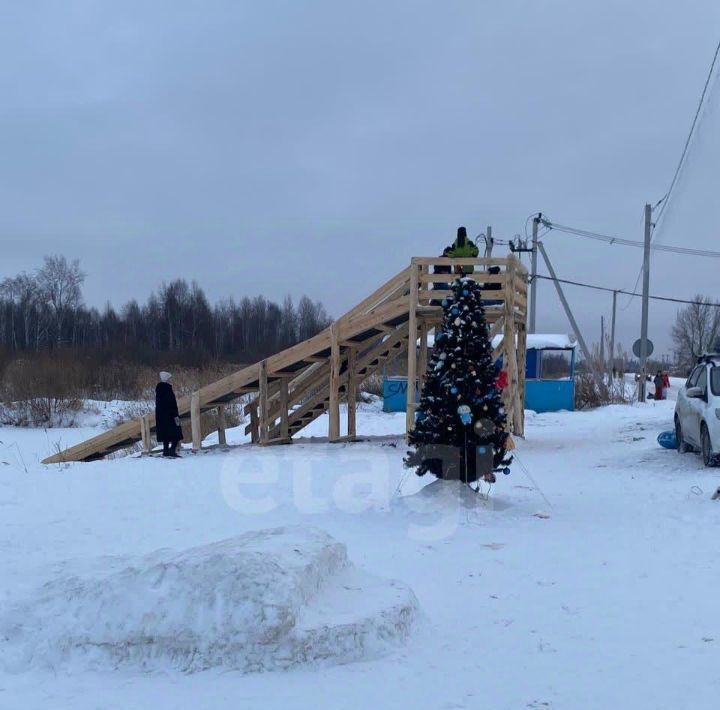
<instances>
[{"instance_id":1,"label":"blue booth with snowy roof, partly hidden behind the wooden slide tower","mask_svg":"<svg viewBox=\"0 0 720 710\"><path fill-rule=\"evenodd\" d=\"M493 347L501 339L502 336L496 336ZM432 335L428 347L432 347ZM383 411L405 411L407 386L405 376L383 378ZM535 412L575 409L575 339L571 336L542 333L527 336L525 409Z\"/></svg>"}]
</instances>

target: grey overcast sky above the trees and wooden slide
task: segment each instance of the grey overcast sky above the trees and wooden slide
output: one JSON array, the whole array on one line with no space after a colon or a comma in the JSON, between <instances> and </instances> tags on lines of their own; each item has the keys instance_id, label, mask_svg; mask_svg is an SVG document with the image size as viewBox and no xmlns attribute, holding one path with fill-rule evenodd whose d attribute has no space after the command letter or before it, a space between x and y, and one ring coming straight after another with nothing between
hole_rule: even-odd
<instances>
[{"instance_id":1,"label":"grey overcast sky above the trees and wooden slide","mask_svg":"<svg viewBox=\"0 0 720 710\"><path fill-rule=\"evenodd\" d=\"M0 0L0 278L61 253L92 305L182 276L336 316L460 224L642 239L719 33L717 0ZM666 244L720 250L717 84ZM640 250L544 242L560 277L635 283ZM651 291L720 297L718 267L657 254ZM567 294L597 340L611 296ZM538 303L569 332L551 284ZM659 352L674 312L651 304Z\"/></svg>"}]
</instances>

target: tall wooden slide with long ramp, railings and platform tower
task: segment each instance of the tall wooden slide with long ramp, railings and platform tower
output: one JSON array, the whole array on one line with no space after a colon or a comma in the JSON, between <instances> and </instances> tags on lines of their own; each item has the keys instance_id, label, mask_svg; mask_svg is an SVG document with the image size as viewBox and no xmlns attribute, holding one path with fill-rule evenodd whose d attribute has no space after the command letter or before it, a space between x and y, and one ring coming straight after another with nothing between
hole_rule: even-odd
<instances>
[{"instance_id":1,"label":"tall wooden slide with long ramp, railings and platform tower","mask_svg":"<svg viewBox=\"0 0 720 710\"><path fill-rule=\"evenodd\" d=\"M409 353L408 369L412 370L409 376L415 379L419 372L419 379L422 379L427 362L427 333L442 317L442 309L433 303L433 299L447 293L431 290L433 282L442 283L439 276L430 273L430 266L436 262L453 266L474 264L482 269L488 265L505 268L506 272L498 276L480 272L473 278L502 285L503 291L496 291L494 295L500 296L508 287L518 291L513 294L512 311L507 308L504 311L504 322L512 322L513 334L516 334L516 324L521 323L524 328L527 272L513 257L414 258L408 268L312 338L202 387L192 395L181 397L178 410L182 420L191 421L193 448L199 450L202 445L201 414L214 409L222 411L225 404L248 393L255 396L244 408L244 413L250 416L245 432L251 435L253 443L289 443L303 427L326 411L330 415L330 441L354 438L355 393L363 380L382 371L387 363L403 352ZM444 280L452 278L450 275L442 276ZM508 326L502 330L500 316L499 312L488 313L488 321L494 324L493 332L511 332ZM411 334L414 336L412 339ZM417 345L410 351L408 349L408 343L417 343L418 337L419 356ZM506 340L519 343L521 339ZM515 347L512 350L510 356L514 361ZM347 435L344 437L340 435L340 398L345 398L348 404ZM512 407L513 401L509 404ZM414 402L408 403L408 422L411 417L414 420ZM219 419L222 422L222 417ZM517 430L517 426L515 428ZM150 413L54 454L43 463L93 461L140 441L149 451L154 430L155 416ZM219 436L224 442L222 428Z\"/></svg>"}]
</instances>

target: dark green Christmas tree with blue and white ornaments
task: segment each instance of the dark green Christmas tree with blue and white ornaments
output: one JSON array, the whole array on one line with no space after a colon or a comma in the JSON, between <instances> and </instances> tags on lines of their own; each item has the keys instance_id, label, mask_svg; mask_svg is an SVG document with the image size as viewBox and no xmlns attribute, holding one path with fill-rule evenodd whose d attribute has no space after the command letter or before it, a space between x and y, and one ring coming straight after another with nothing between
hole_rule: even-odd
<instances>
[{"instance_id":1,"label":"dark green Christmas tree with blue and white ornaments","mask_svg":"<svg viewBox=\"0 0 720 710\"><path fill-rule=\"evenodd\" d=\"M415 428L409 442L415 447L405 465L419 476L466 483L495 481L495 473L509 473L512 447L505 431L506 417L499 369L488 339L482 288L470 278L452 285L443 299L442 326L428 364Z\"/></svg>"}]
</instances>

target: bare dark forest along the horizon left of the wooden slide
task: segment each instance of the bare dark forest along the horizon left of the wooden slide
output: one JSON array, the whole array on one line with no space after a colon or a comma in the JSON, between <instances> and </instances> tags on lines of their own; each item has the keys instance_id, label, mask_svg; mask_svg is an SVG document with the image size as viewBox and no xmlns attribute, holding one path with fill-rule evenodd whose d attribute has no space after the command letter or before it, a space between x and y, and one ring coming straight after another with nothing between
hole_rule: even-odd
<instances>
[{"instance_id":1,"label":"bare dark forest along the horizon left of the wooden slide","mask_svg":"<svg viewBox=\"0 0 720 710\"><path fill-rule=\"evenodd\" d=\"M0 282L0 348L12 353L54 349L187 364L253 362L305 340L330 323L325 308L303 296L277 304L264 296L211 304L195 282L163 283L145 303L119 310L84 303L78 260L47 256L42 267Z\"/></svg>"}]
</instances>

